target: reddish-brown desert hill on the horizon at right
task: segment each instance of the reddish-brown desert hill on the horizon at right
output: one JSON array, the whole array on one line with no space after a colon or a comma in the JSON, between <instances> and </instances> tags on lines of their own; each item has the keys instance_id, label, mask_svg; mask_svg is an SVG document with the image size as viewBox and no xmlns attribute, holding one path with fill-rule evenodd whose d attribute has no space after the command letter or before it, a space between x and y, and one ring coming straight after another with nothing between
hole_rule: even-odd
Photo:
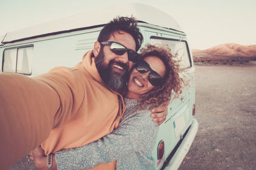
<instances>
[{"instance_id":1,"label":"reddish-brown desert hill on the horizon at right","mask_svg":"<svg viewBox=\"0 0 256 170\"><path fill-rule=\"evenodd\" d=\"M195 62L209 64L244 64L256 60L256 45L239 45L227 43L213 46L206 50L192 50Z\"/></svg>"}]
</instances>

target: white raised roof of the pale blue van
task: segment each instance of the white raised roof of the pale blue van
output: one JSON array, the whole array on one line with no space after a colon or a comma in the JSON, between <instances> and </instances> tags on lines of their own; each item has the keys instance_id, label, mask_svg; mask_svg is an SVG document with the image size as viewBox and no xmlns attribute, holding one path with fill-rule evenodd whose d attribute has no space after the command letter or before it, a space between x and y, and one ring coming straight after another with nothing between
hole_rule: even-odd
<instances>
[{"instance_id":1,"label":"white raised roof of the pale blue van","mask_svg":"<svg viewBox=\"0 0 256 170\"><path fill-rule=\"evenodd\" d=\"M67 18L61 18L35 25L18 31L8 32L2 43L13 41L22 41L24 39L48 36L51 34L60 34L62 32L72 32L77 29L87 29L88 27L97 27L107 24L117 16L136 18L139 22L174 29L183 32L179 24L170 15L161 10L146 4L122 4L111 6L97 11L86 11Z\"/></svg>"}]
</instances>

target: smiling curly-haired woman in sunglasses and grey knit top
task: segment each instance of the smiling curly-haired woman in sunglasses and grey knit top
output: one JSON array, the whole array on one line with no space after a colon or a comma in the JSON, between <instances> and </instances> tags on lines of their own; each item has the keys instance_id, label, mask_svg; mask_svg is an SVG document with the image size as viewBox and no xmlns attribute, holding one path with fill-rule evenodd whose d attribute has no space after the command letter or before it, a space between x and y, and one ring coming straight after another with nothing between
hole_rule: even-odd
<instances>
[{"instance_id":1,"label":"smiling curly-haired woman in sunglasses and grey knit top","mask_svg":"<svg viewBox=\"0 0 256 170\"><path fill-rule=\"evenodd\" d=\"M179 64L168 48L143 48L131 71L125 93L127 110L118 128L88 145L57 152L52 168L56 168L55 160L58 169L89 169L116 160L116 169L155 169L151 155L158 128L148 110L166 106L172 91L179 96L183 81L178 72ZM36 166L45 168L46 158L35 154Z\"/></svg>"}]
</instances>

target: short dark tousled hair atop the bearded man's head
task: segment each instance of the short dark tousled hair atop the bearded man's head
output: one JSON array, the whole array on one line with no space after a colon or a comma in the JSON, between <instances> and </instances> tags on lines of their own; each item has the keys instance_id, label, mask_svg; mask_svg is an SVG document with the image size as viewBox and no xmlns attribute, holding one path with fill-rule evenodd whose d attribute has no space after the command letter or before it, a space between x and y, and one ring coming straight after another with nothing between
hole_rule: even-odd
<instances>
[{"instance_id":1,"label":"short dark tousled hair atop the bearded man's head","mask_svg":"<svg viewBox=\"0 0 256 170\"><path fill-rule=\"evenodd\" d=\"M103 42L107 41L111 34L115 31L124 31L134 38L136 43L136 51L140 49L141 43L143 41L143 36L137 27L137 21L134 17L116 17L111 22L105 25L105 27L100 31L97 41Z\"/></svg>"}]
</instances>

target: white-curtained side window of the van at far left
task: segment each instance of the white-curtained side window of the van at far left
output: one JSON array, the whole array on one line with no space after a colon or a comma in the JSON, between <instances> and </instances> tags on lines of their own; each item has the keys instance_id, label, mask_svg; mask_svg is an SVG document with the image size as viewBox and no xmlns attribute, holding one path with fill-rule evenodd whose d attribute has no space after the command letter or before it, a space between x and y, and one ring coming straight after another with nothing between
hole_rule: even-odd
<instances>
[{"instance_id":1,"label":"white-curtained side window of the van at far left","mask_svg":"<svg viewBox=\"0 0 256 170\"><path fill-rule=\"evenodd\" d=\"M4 50L3 72L31 75L33 46Z\"/></svg>"}]
</instances>

